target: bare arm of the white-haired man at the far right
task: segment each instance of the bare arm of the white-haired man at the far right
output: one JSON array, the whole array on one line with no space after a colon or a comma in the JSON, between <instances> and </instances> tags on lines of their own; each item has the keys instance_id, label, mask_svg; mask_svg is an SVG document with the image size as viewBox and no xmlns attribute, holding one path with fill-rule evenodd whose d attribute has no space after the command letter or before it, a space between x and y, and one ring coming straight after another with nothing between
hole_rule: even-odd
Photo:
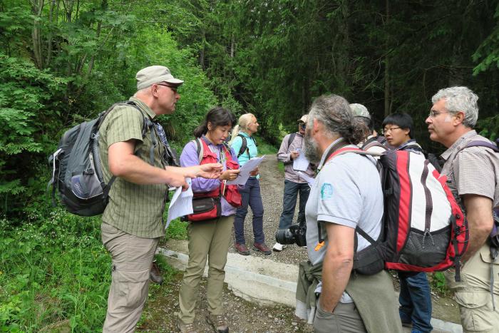
<instances>
[{"instance_id":1,"label":"bare arm of the white-haired man at the far right","mask_svg":"<svg viewBox=\"0 0 499 333\"><path fill-rule=\"evenodd\" d=\"M492 200L483 195L467 194L463 196L466 208L466 219L470 228L470 241L463 261L477 252L487 240L493 226Z\"/></svg>"}]
</instances>

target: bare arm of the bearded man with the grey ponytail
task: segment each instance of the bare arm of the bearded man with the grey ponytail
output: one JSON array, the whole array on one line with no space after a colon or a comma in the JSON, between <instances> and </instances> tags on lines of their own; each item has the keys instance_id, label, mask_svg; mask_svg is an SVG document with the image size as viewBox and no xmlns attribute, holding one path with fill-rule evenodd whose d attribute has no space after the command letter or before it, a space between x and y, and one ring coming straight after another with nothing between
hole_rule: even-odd
<instances>
[{"instance_id":1,"label":"bare arm of the bearded man with the grey ponytail","mask_svg":"<svg viewBox=\"0 0 499 333\"><path fill-rule=\"evenodd\" d=\"M328 245L322 266L321 308L333 312L350 279L354 265L355 229L325 222Z\"/></svg>"}]
</instances>

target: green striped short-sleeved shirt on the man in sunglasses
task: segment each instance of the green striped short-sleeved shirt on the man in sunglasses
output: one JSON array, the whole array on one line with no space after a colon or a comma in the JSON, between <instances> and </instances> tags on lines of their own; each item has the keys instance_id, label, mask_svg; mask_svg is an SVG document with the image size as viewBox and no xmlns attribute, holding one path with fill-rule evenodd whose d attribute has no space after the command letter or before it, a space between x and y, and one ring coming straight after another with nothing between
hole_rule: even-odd
<instances>
[{"instance_id":1,"label":"green striped short-sleeved shirt on the man in sunglasses","mask_svg":"<svg viewBox=\"0 0 499 333\"><path fill-rule=\"evenodd\" d=\"M111 178L108 148L113 143L135 140L135 155L150 163L150 147L153 145L150 131L142 137L143 116L155 118L155 113L138 98L130 98L142 112L133 106L116 106L110 111L99 130L99 153L106 183ZM141 114L142 113L142 114ZM155 130L156 147L154 165L164 168L161 161L163 145ZM102 215L103 222L124 232L143 238L161 237L165 234L163 211L165 210L166 184L138 185L123 178L116 178L109 193L109 203Z\"/></svg>"}]
</instances>

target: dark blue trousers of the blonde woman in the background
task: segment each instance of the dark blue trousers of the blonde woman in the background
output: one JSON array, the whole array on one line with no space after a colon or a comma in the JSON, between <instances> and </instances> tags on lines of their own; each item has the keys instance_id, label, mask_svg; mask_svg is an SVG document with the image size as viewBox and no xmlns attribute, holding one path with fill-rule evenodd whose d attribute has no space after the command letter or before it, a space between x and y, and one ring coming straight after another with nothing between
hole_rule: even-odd
<instances>
[{"instance_id":1,"label":"dark blue trousers of the blonde woman in the background","mask_svg":"<svg viewBox=\"0 0 499 333\"><path fill-rule=\"evenodd\" d=\"M262 195L260 195L260 181L256 177L249 177L245 188L240 189L239 193L241 193L242 206L237 208L234 218L236 242L238 244L246 244L245 218L249 205L253 212L254 242L262 244L265 238L263 235L263 203Z\"/></svg>"}]
</instances>

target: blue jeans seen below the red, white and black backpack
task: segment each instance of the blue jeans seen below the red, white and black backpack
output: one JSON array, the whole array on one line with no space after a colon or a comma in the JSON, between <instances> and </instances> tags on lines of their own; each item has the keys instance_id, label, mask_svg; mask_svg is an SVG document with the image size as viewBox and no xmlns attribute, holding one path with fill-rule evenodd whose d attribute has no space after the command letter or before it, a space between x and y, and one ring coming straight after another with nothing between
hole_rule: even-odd
<instances>
[{"instance_id":1,"label":"blue jeans seen below the red, white and black backpack","mask_svg":"<svg viewBox=\"0 0 499 333\"><path fill-rule=\"evenodd\" d=\"M398 272L398 313L402 322L412 322L412 332L431 332L431 294L425 272Z\"/></svg>"}]
</instances>

